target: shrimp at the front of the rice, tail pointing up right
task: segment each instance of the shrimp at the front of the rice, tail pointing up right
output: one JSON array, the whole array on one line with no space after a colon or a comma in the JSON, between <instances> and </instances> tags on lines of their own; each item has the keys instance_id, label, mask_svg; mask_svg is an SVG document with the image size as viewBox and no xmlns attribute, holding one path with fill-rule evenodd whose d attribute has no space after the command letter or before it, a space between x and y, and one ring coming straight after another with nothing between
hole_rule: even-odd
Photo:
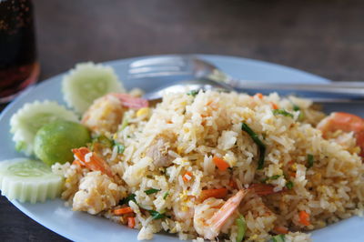
<instances>
[{"instance_id":1,"label":"shrimp at the front of the rice, tail pointing up right","mask_svg":"<svg viewBox=\"0 0 364 242\"><path fill-rule=\"evenodd\" d=\"M194 215L194 227L197 233L207 239L217 237L221 228L237 210L241 200L247 193L247 189L242 189L233 197L228 198L226 202L222 199L210 197L202 204L197 205Z\"/></svg>"}]
</instances>

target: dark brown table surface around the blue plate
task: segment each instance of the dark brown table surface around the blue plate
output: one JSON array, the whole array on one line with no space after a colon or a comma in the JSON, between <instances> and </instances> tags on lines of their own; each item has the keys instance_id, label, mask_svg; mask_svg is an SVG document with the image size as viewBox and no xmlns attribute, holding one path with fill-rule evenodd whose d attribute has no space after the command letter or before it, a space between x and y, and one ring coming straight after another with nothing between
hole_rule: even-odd
<instances>
[{"instance_id":1,"label":"dark brown table surface around the blue plate","mask_svg":"<svg viewBox=\"0 0 364 242\"><path fill-rule=\"evenodd\" d=\"M362 1L34 2L42 80L80 61L172 53L238 55L364 80ZM0 241L63 240L0 198Z\"/></svg>"}]
</instances>

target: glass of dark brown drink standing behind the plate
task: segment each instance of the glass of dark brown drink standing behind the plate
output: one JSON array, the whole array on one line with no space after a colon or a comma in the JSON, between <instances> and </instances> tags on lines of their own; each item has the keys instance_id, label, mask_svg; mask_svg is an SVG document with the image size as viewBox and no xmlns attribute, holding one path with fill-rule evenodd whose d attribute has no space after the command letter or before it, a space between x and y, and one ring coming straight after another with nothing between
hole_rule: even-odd
<instances>
[{"instance_id":1,"label":"glass of dark brown drink standing behind the plate","mask_svg":"<svg viewBox=\"0 0 364 242\"><path fill-rule=\"evenodd\" d=\"M33 4L30 0L0 0L0 103L36 82Z\"/></svg>"}]
</instances>

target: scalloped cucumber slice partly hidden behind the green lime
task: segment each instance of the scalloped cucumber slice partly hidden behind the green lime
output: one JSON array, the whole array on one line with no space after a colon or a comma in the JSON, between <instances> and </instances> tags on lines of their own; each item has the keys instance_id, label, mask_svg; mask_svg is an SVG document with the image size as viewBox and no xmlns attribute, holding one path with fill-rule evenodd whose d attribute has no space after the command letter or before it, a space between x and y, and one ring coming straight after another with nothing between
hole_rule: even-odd
<instances>
[{"instance_id":1,"label":"scalloped cucumber slice partly hidden behind the green lime","mask_svg":"<svg viewBox=\"0 0 364 242\"><path fill-rule=\"evenodd\" d=\"M15 149L31 156L36 131L41 126L56 120L78 122L78 116L56 102L35 101L25 104L10 119L10 132L14 134Z\"/></svg>"}]
</instances>

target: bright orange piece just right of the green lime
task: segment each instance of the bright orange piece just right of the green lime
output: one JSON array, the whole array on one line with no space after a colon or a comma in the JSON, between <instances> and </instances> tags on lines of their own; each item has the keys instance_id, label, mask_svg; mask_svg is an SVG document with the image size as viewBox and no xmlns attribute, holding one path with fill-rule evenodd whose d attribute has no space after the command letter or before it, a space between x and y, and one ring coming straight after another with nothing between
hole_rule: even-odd
<instances>
[{"instance_id":1,"label":"bright orange piece just right of the green lime","mask_svg":"<svg viewBox=\"0 0 364 242\"><path fill-rule=\"evenodd\" d=\"M74 148L72 152L75 154L76 158L82 161L85 166L94 171L101 171L107 176L113 176L110 166L106 163L104 159L97 156L95 152L92 152L92 156L89 157L89 161L86 162L86 155L91 153L86 147Z\"/></svg>"}]
</instances>

